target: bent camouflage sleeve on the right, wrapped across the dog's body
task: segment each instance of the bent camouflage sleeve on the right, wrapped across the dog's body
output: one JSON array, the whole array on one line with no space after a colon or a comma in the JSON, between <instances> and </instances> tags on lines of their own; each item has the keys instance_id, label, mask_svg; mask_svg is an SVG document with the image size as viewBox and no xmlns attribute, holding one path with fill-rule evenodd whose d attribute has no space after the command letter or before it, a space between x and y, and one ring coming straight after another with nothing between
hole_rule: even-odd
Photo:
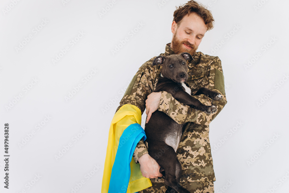
<instances>
[{"instance_id":1,"label":"bent camouflage sleeve on the right, wrapped across the dog's body","mask_svg":"<svg viewBox=\"0 0 289 193\"><path fill-rule=\"evenodd\" d=\"M200 125L209 125L227 103L221 60L218 57L215 57L209 65L206 72L208 77L204 78L203 81L208 81L208 89L220 93L223 96L223 99L215 101L203 94L192 97L198 99L205 105L216 106L217 112L208 115L203 111L197 111L188 105L180 103L173 98L170 93L165 91L162 91L158 110L166 113L179 124L194 122Z\"/></svg>"}]
</instances>

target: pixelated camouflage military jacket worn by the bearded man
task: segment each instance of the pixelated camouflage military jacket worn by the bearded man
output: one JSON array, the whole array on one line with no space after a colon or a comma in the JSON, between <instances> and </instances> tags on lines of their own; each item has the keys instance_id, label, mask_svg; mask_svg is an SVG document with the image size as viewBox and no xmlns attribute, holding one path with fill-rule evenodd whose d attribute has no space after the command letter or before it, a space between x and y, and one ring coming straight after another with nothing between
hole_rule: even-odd
<instances>
[{"instance_id":1,"label":"pixelated camouflage military jacket worn by the bearded man","mask_svg":"<svg viewBox=\"0 0 289 193\"><path fill-rule=\"evenodd\" d=\"M160 55L172 55L173 49L170 43L166 45L165 53ZM153 92L160 78L161 66L152 66L155 57L145 62L131 80L120 106L132 104L137 106L143 113L145 110L145 100ZM188 60L188 80L192 94L199 88L206 87L216 91L223 96L220 101L212 100L206 95L193 96L205 105L214 105L217 112L208 115L203 111L196 111L194 108L184 105L175 100L170 93L162 91L158 110L166 113L179 124L187 123L184 126L179 147L177 148L177 158L181 162L182 175L181 182L194 181L215 181L213 160L209 140L209 124L220 113L227 103L225 96L224 76L221 60L216 56L204 55L196 52L194 60ZM144 128L145 129L145 128ZM138 158L147 152L147 144L141 140L134 151L134 160L138 163ZM151 181L164 182L164 178L151 179Z\"/></svg>"}]
</instances>

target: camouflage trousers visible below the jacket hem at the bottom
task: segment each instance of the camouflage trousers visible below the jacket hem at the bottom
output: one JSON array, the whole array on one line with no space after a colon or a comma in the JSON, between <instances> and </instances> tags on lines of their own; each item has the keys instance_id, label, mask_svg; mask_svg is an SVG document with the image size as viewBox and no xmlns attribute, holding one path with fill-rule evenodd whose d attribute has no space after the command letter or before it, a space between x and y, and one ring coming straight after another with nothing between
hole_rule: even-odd
<instances>
[{"instance_id":1,"label":"camouflage trousers visible below the jacket hem at the bottom","mask_svg":"<svg viewBox=\"0 0 289 193\"><path fill-rule=\"evenodd\" d=\"M214 182L187 182L181 185L191 193L214 193ZM168 188L164 183L152 183L152 186L138 193L164 193Z\"/></svg>"}]
</instances>

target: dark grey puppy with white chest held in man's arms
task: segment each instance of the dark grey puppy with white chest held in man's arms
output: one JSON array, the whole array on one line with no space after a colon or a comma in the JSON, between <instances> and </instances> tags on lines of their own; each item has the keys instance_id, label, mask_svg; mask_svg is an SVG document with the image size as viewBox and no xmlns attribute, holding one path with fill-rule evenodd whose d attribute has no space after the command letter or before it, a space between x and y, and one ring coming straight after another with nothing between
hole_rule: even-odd
<instances>
[{"instance_id":1,"label":"dark grey puppy with white chest held in man's arms","mask_svg":"<svg viewBox=\"0 0 289 193\"><path fill-rule=\"evenodd\" d=\"M207 106L191 96L190 89L184 84L188 79L188 66L186 60L193 59L192 56L183 52L171 56L157 56L152 65L161 65L161 77L154 92L166 91L179 102L189 105L196 110L207 114L216 112L216 106ZM200 88L195 95L204 94L213 100L221 100L222 95L207 88ZM178 124L171 117L161 111L152 113L146 124L148 152L161 167L164 182L168 185L166 193L180 192L190 193L183 188L179 182L181 179L181 163L177 159L176 150L182 135L184 124Z\"/></svg>"}]
</instances>

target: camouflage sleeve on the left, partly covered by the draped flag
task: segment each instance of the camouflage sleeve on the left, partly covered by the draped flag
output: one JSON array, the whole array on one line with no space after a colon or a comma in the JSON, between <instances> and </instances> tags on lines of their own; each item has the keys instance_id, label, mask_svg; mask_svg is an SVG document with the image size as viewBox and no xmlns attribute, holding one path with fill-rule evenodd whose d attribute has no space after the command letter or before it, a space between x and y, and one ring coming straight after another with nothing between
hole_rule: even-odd
<instances>
[{"instance_id":1,"label":"camouflage sleeve on the left, partly covered by the draped flag","mask_svg":"<svg viewBox=\"0 0 289 193\"><path fill-rule=\"evenodd\" d=\"M152 93L153 85L154 85L154 68L151 67L152 60L144 63L136 73L136 75L131 80L123 98L121 99L120 106L118 109L124 104L132 104L137 106L141 113L144 112L145 109L145 100L147 100L147 96ZM143 139L141 139L134 151L133 157L136 163L138 163L138 159L148 153L147 146L144 144Z\"/></svg>"}]
</instances>

